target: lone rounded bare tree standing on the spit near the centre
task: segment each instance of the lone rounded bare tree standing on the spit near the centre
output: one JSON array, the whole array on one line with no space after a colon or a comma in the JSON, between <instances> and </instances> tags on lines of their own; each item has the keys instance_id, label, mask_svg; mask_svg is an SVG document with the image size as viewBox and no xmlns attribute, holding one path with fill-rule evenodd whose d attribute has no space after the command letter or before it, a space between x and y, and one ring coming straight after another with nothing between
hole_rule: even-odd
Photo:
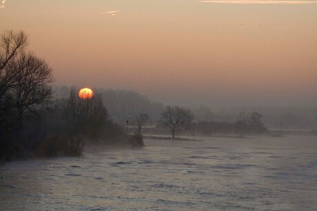
<instances>
[{"instance_id":1,"label":"lone rounded bare tree standing on the spit near the centre","mask_svg":"<svg viewBox=\"0 0 317 211\"><path fill-rule=\"evenodd\" d=\"M180 128L188 128L192 124L194 114L189 109L179 106L166 106L161 114L161 123L172 132L172 138L175 137L176 130Z\"/></svg>"}]
</instances>

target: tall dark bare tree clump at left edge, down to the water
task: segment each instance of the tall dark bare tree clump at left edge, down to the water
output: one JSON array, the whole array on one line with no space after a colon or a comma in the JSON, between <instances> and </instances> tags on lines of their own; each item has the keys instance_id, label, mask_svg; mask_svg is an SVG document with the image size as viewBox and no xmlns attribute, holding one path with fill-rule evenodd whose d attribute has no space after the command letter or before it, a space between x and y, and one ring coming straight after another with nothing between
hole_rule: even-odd
<instances>
[{"instance_id":1,"label":"tall dark bare tree clump at left edge, down to the water","mask_svg":"<svg viewBox=\"0 0 317 211\"><path fill-rule=\"evenodd\" d=\"M0 157L32 150L43 108L52 106L52 68L26 46L22 31L0 34Z\"/></svg>"}]
</instances>

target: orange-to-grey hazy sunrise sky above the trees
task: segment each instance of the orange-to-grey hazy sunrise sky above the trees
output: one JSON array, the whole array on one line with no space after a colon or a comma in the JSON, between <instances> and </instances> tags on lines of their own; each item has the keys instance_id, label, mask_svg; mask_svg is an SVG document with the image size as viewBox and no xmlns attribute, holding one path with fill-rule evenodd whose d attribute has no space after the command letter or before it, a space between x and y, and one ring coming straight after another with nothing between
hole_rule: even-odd
<instances>
[{"instance_id":1,"label":"orange-to-grey hazy sunrise sky above the trees","mask_svg":"<svg viewBox=\"0 0 317 211\"><path fill-rule=\"evenodd\" d=\"M181 106L317 105L317 1L5 0L56 85Z\"/></svg>"}]
</instances>

